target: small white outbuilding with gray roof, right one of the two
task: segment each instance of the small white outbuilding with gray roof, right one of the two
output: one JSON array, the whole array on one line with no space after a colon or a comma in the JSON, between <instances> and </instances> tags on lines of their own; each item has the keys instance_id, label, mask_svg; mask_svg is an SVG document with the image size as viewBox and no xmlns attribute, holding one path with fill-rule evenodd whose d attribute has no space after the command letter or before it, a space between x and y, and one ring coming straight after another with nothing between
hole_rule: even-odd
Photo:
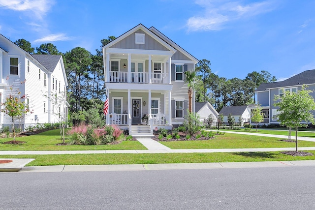
<instances>
[{"instance_id":1,"label":"small white outbuilding with gray roof, right one of the two","mask_svg":"<svg viewBox=\"0 0 315 210\"><path fill-rule=\"evenodd\" d=\"M227 117L229 114L234 117L235 122L239 122L240 116L243 118L244 122L249 122L251 120L251 107L254 105L245 105L245 106L224 106L219 112L220 115L223 115L223 122L227 122Z\"/></svg>"}]
</instances>

